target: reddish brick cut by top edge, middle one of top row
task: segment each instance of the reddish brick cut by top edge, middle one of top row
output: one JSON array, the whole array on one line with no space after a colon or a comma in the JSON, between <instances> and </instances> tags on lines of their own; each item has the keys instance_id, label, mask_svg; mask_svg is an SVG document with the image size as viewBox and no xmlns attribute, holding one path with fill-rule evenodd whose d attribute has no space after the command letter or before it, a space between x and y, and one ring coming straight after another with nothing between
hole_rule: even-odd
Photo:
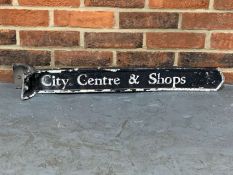
<instances>
[{"instance_id":1,"label":"reddish brick cut by top edge, middle one of top row","mask_svg":"<svg viewBox=\"0 0 233 175\"><path fill-rule=\"evenodd\" d=\"M85 0L86 6L143 8L144 0Z\"/></svg>"}]
</instances>

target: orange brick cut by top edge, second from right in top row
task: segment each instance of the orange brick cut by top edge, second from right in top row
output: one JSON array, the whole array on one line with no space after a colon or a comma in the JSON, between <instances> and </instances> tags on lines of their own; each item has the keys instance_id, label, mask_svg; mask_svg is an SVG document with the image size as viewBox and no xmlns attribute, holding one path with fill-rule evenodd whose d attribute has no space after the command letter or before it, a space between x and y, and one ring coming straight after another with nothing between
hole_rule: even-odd
<instances>
[{"instance_id":1,"label":"orange brick cut by top edge, second from right in top row","mask_svg":"<svg viewBox=\"0 0 233 175\"><path fill-rule=\"evenodd\" d=\"M149 0L150 8L207 9L209 0Z\"/></svg>"}]
</instances>

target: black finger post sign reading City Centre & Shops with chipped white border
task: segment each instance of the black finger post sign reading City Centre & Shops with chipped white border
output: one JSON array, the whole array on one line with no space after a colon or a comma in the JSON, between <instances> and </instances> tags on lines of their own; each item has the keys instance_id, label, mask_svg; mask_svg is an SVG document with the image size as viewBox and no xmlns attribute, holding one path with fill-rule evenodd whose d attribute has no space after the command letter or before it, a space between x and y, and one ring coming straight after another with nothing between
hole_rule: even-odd
<instances>
[{"instance_id":1,"label":"black finger post sign reading City Centre & Shops with chipped white border","mask_svg":"<svg viewBox=\"0 0 233 175\"><path fill-rule=\"evenodd\" d=\"M14 65L21 98L37 93L217 91L224 83L215 68L115 68L36 70Z\"/></svg>"}]
</instances>

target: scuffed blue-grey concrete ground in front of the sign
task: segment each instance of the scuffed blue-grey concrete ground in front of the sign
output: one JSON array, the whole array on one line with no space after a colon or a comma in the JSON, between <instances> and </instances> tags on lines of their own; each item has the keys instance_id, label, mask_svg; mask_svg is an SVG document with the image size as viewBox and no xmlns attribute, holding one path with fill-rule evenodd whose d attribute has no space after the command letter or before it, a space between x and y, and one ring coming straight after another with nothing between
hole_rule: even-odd
<instances>
[{"instance_id":1,"label":"scuffed blue-grey concrete ground in front of the sign","mask_svg":"<svg viewBox=\"0 0 233 175\"><path fill-rule=\"evenodd\" d=\"M0 175L233 173L233 87L19 97L0 84Z\"/></svg>"}]
</instances>

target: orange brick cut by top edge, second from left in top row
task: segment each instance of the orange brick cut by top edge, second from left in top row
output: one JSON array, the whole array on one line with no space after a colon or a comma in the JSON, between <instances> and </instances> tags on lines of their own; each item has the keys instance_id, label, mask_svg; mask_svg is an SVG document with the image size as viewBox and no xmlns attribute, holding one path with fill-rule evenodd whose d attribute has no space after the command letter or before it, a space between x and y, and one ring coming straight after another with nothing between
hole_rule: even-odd
<instances>
[{"instance_id":1,"label":"orange brick cut by top edge, second from left in top row","mask_svg":"<svg viewBox=\"0 0 233 175\"><path fill-rule=\"evenodd\" d=\"M18 0L25 6L70 6L79 7L80 0Z\"/></svg>"}]
</instances>

